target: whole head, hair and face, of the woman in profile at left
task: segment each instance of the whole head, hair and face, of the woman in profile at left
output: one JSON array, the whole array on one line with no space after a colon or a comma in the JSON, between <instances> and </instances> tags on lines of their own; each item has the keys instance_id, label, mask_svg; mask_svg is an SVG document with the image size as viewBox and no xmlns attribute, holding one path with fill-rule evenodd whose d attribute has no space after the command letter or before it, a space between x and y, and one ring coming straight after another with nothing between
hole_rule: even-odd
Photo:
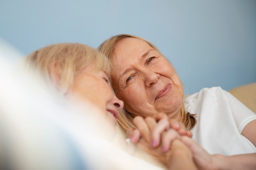
<instances>
[{"instance_id":1,"label":"whole head, hair and face, of the woman in profile at left","mask_svg":"<svg viewBox=\"0 0 256 170\"><path fill-rule=\"evenodd\" d=\"M92 103L106 121L117 124L117 112L124 104L110 87L108 59L96 49L79 43L53 44L34 51L24 61L63 96Z\"/></svg>"}]
</instances>

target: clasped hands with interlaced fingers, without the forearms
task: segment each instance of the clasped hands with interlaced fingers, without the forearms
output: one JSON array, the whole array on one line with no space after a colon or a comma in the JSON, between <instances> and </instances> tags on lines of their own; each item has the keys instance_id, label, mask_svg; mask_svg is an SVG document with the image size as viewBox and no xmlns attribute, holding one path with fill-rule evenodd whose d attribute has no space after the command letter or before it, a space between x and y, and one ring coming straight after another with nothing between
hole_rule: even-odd
<instances>
[{"instance_id":1,"label":"clasped hands with interlaced fingers, without the forearms","mask_svg":"<svg viewBox=\"0 0 256 170\"><path fill-rule=\"evenodd\" d=\"M137 116L133 120L135 128L129 128L126 135L132 144L136 144L150 155L154 155L166 166L170 163L173 154L171 148L175 147L179 152L185 149L192 157L190 150L179 139L182 136L192 137L192 133L176 119L169 119L166 114L159 113L152 117ZM177 140L178 139L178 140ZM173 145L175 144L175 145ZM128 151L133 152L133 151Z\"/></svg>"}]
</instances>

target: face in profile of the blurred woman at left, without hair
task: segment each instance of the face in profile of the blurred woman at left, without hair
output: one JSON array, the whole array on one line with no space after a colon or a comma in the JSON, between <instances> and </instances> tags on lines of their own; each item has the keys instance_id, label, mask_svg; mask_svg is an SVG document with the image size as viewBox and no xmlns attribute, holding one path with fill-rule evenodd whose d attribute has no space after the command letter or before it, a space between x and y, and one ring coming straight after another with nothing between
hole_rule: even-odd
<instances>
[{"instance_id":1,"label":"face in profile of the blurred woman at left, without hair","mask_svg":"<svg viewBox=\"0 0 256 170\"><path fill-rule=\"evenodd\" d=\"M93 65L83 69L74 76L70 92L97 106L106 121L117 125L117 113L124 107L124 102L113 95L109 77L104 71L95 69Z\"/></svg>"}]
</instances>

